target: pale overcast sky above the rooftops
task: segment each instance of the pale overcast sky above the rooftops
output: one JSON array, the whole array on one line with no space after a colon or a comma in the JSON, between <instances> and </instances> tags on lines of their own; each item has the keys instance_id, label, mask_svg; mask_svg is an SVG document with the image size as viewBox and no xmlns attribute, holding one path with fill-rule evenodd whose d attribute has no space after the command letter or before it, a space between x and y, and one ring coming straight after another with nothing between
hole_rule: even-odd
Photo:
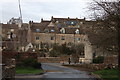
<instances>
[{"instance_id":1,"label":"pale overcast sky above the rooftops","mask_svg":"<svg viewBox=\"0 0 120 80\"><path fill-rule=\"evenodd\" d=\"M53 17L88 18L89 3L92 0L20 0L24 22ZM12 17L19 17L18 0L0 0L1 22L6 23Z\"/></svg>"}]
</instances>

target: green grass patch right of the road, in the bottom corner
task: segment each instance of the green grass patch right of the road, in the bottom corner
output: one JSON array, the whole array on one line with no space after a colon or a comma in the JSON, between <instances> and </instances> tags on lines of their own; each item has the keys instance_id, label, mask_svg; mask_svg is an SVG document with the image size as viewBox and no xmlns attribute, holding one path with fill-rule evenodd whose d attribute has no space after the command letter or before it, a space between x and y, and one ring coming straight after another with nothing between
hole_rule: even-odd
<instances>
[{"instance_id":1,"label":"green grass patch right of the road, in the bottom corner","mask_svg":"<svg viewBox=\"0 0 120 80\"><path fill-rule=\"evenodd\" d=\"M100 75L105 80L116 80L118 79L118 69L105 69L93 72L94 74Z\"/></svg>"}]
</instances>

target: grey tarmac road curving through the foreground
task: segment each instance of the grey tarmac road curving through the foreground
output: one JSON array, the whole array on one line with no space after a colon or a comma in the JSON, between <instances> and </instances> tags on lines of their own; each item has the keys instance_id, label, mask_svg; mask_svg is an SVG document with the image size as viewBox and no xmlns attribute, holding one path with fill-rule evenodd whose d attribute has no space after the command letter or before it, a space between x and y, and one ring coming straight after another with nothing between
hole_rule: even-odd
<instances>
[{"instance_id":1,"label":"grey tarmac road curving through the foreground","mask_svg":"<svg viewBox=\"0 0 120 80\"><path fill-rule=\"evenodd\" d=\"M95 80L88 72L61 66L59 63L42 63L43 75L17 76L16 80Z\"/></svg>"}]
</instances>

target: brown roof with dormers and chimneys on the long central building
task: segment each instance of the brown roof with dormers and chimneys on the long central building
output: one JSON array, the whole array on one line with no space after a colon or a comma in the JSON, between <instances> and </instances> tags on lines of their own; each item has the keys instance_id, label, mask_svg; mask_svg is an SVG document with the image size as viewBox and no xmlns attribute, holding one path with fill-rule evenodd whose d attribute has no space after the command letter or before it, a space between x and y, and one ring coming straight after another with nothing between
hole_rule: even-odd
<instances>
[{"instance_id":1,"label":"brown roof with dormers and chimneys on the long central building","mask_svg":"<svg viewBox=\"0 0 120 80\"><path fill-rule=\"evenodd\" d=\"M56 21L58 21L58 23L56 23ZM71 25L71 23L69 21L74 21L74 22L76 22L76 24ZM78 25L78 23L80 21L85 21L85 19L53 18L52 17L51 21L42 19L40 23L34 23L33 22L32 25L31 25L31 30L32 30L32 32L37 32L36 30L39 29L40 30L39 33L45 33L45 30L48 30L49 33L61 33L60 29L65 28L65 34L74 34L76 29L79 29L80 34L81 34L82 31L80 30L80 28L75 27L76 25ZM51 24L51 22L55 26L48 26L49 24ZM68 27L68 26L74 26L74 27Z\"/></svg>"}]
</instances>

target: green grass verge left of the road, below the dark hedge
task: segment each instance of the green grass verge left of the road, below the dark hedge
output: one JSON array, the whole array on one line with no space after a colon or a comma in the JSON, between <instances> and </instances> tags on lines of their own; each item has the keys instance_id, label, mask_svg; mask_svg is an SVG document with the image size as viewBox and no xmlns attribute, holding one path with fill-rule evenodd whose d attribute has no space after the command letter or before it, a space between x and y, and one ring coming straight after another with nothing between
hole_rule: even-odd
<instances>
[{"instance_id":1,"label":"green grass verge left of the road, below the dark hedge","mask_svg":"<svg viewBox=\"0 0 120 80\"><path fill-rule=\"evenodd\" d=\"M44 71L42 69L36 69L32 67L17 67L16 74L41 74Z\"/></svg>"}]
</instances>

